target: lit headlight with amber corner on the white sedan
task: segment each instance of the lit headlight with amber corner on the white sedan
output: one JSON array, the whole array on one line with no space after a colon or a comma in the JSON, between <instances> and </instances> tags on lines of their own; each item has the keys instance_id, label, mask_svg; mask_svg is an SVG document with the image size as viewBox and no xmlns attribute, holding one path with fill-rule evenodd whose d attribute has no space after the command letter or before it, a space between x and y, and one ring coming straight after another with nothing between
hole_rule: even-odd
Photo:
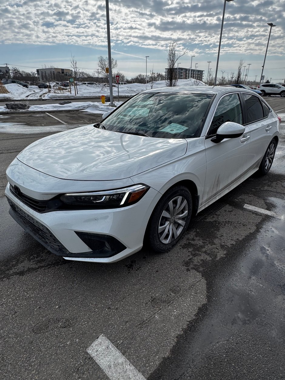
<instances>
[{"instance_id":1,"label":"lit headlight with amber corner on the white sedan","mask_svg":"<svg viewBox=\"0 0 285 380\"><path fill-rule=\"evenodd\" d=\"M139 201L149 190L149 186L139 184L117 190L68 193L60 197L63 203L94 209L109 209L130 206Z\"/></svg>"}]
</instances>

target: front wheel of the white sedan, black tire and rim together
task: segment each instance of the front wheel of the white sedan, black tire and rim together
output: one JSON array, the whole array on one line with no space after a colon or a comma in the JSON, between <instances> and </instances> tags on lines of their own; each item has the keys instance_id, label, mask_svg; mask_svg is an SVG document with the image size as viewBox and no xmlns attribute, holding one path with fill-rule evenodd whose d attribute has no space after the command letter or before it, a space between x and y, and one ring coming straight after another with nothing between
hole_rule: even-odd
<instances>
[{"instance_id":1,"label":"front wheel of the white sedan, black tire and rim together","mask_svg":"<svg viewBox=\"0 0 285 380\"><path fill-rule=\"evenodd\" d=\"M155 252L166 252L184 235L192 214L192 196L187 187L169 189L158 201L149 220L146 241Z\"/></svg>"}]
</instances>

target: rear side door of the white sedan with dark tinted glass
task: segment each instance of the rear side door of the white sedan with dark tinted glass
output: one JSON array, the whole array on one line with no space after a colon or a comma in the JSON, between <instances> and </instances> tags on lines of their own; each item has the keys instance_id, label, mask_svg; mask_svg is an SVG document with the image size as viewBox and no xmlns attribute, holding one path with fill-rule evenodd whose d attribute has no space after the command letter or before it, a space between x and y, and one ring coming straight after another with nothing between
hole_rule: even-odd
<instances>
[{"instance_id":1,"label":"rear side door of the white sedan with dark tinted glass","mask_svg":"<svg viewBox=\"0 0 285 380\"><path fill-rule=\"evenodd\" d=\"M242 93L245 108L245 126L250 130L249 163L259 165L272 134L277 129L277 120L269 106L254 94Z\"/></svg>"}]
</instances>

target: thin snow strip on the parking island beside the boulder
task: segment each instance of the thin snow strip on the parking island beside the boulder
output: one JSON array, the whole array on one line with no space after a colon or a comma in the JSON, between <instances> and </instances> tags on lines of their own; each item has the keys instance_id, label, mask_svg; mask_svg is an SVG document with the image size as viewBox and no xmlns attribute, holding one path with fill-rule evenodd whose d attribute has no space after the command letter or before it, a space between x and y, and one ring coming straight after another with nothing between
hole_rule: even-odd
<instances>
[{"instance_id":1,"label":"thin snow strip on the parking island beside the boulder","mask_svg":"<svg viewBox=\"0 0 285 380\"><path fill-rule=\"evenodd\" d=\"M116 106L122 104L122 102L115 101ZM108 103L107 103L108 104ZM40 104L36 106L30 106L27 110L22 110L18 112L28 112L28 111L85 111L96 114L104 114L107 111L113 111L113 107L109 107L108 105L103 105L102 103L96 103L92 101L82 101L82 102L72 102L65 105L60 104ZM0 106L0 112L10 112L6 106Z\"/></svg>"}]
</instances>

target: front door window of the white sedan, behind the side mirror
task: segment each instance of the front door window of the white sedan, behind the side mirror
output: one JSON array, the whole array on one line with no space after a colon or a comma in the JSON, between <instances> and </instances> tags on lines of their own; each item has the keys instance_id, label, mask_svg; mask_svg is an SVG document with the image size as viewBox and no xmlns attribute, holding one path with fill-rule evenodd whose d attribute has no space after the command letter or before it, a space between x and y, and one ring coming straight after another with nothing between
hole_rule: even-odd
<instances>
[{"instance_id":1,"label":"front door window of the white sedan, behind the side mirror","mask_svg":"<svg viewBox=\"0 0 285 380\"><path fill-rule=\"evenodd\" d=\"M242 124L242 111L237 94L226 95L220 100L215 111L208 135L217 133L218 127L227 121Z\"/></svg>"}]
</instances>

